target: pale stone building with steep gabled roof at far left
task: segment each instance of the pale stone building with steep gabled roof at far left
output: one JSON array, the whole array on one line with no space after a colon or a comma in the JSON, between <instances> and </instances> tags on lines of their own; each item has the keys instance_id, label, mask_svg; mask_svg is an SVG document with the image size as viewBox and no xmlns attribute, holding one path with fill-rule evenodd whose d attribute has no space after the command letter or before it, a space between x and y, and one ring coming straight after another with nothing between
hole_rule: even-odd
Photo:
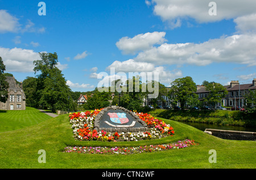
<instances>
[{"instance_id":1,"label":"pale stone building with steep gabled roof at far left","mask_svg":"<svg viewBox=\"0 0 256 180\"><path fill-rule=\"evenodd\" d=\"M14 77L6 77L9 83L8 99L5 103L0 102L0 110L26 110L26 95L22 83L18 85Z\"/></svg>"}]
</instances>

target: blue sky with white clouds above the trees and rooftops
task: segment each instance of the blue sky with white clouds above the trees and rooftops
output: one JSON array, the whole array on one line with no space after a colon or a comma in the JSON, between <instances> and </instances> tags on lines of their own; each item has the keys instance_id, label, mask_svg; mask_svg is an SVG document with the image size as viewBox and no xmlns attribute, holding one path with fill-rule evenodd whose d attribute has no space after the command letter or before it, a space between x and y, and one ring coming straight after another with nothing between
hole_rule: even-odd
<instances>
[{"instance_id":1,"label":"blue sky with white clouds above the trees and rooftops","mask_svg":"<svg viewBox=\"0 0 256 180\"><path fill-rule=\"evenodd\" d=\"M256 2L195 0L0 1L0 56L18 81L39 52L56 52L73 91L101 72L158 72L166 86L191 76L227 85L256 78ZM232 2L232 3L231 3Z\"/></svg>"}]
</instances>

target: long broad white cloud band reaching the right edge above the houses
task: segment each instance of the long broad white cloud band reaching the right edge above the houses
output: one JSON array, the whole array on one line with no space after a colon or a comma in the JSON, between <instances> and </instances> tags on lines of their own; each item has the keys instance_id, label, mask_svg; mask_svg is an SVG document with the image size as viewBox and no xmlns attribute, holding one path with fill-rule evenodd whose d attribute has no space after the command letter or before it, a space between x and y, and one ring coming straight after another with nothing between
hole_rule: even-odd
<instances>
[{"instance_id":1,"label":"long broad white cloud band reaching the right edge above the houses","mask_svg":"<svg viewBox=\"0 0 256 180\"><path fill-rule=\"evenodd\" d=\"M135 61L152 64L192 64L208 65L212 62L234 62L256 65L256 35L233 35L211 39L204 43L164 43L141 52Z\"/></svg>"}]
</instances>

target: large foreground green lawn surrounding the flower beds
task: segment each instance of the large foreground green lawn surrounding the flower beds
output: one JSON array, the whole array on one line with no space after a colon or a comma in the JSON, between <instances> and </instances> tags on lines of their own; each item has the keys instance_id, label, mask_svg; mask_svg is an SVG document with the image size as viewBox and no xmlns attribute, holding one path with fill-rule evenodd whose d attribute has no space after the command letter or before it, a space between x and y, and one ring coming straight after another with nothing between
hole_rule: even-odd
<instances>
[{"instance_id":1,"label":"large foreground green lawn surrounding the flower beds","mask_svg":"<svg viewBox=\"0 0 256 180\"><path fill-rule=\"evenodd\" d=\"M0 168L256 168L256 141L223 140L189 125L164 119L175 129L173 137L137 142L75 141L68 115L0 133ZM130 155L63 153L68 145L138 146L191 139L199 145L184 149ZM38 150L46 150L46 163L39 163ZM217 163L209 163L209 150Z\"/></svg>"}]
</instances>

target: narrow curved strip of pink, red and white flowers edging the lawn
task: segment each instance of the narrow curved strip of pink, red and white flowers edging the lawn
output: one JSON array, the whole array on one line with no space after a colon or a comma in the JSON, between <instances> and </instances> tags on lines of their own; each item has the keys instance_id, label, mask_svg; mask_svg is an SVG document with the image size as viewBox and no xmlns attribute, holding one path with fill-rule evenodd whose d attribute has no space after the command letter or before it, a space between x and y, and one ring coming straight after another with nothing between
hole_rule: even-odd
<instances>
[{"instance_id":1,"label":"narrow curved strip of pink, red and white flowers edging the lawn","mask_svg":"<svg viewBox=\"0 0 256 180\"><path fill-rule=\"evenodd\" d=\"M178 141L176 143L162 144L162 145L145 145L136 147L92 147L92 146L68 146L64 152L67 153L87 153L87 154L135 154L147 152L159 152L168 149L187 148L191 145L196 145L193 140Z\"/></svg>"}]
</instances>

